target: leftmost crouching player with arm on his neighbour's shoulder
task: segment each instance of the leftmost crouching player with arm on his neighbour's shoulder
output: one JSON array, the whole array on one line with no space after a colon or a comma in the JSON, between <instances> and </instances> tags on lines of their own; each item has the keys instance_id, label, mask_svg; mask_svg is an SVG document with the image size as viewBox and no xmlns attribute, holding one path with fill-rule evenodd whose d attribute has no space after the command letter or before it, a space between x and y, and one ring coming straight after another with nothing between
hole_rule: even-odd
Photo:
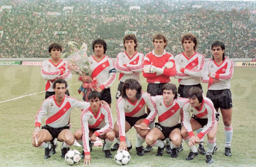
<instances>
[{"instance_id":1,"label":"leftmost crouching player with arm on his neighbour's shoulder","mask_svg":"<svg viewBox=\"0 0 256 167\"><path fill-rule=\"evenodd\" d=\"M45 148L44 159L50 158L51 149L55 149L57 146L57 142L52 145L52 141L55 138L63 142L61 145L61 158L65 157L69 147L75 142L74 135L68 126L71 110L75 107L83 109L90 106L88 102L81 102L65 95L68 83L64 79L55 80L52 87L55 95L44 100L36 115L35 132L32 133L32 145ZM46 116L46 125L42 126L40 131L41 121L44 116Z\"/></svg>"}]
</instances>

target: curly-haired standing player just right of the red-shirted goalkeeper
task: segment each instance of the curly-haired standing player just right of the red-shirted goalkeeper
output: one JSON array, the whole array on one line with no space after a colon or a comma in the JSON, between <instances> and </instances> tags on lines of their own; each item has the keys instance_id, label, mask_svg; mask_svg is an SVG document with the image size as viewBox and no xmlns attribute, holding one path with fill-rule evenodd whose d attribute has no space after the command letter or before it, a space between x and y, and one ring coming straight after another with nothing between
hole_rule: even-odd
<instances>
[{"instance_id":1,"label":"curly-haired standing player just right of the red-shirted goalkeeper","mask_svg":"<svg viewBox=\"0 0 256 167\"><path fill-rule=\"evenodd\" d=\"M202 89L201 77L204 73L204 56L196 52L197 38L192 33L183 34L181 43L184 52L175 56L176 75L180 83L178 87L178 96L188 98L188 90L191 87L199 87ZM202 129L201 129L202 130ZM199 131L200 132L200 131ZM198 132L198 133L199 133ZM198 151L205 155L204 138L202 138ZM183 149L183 144L179 150Z\"/></svg>"}]
</instances>

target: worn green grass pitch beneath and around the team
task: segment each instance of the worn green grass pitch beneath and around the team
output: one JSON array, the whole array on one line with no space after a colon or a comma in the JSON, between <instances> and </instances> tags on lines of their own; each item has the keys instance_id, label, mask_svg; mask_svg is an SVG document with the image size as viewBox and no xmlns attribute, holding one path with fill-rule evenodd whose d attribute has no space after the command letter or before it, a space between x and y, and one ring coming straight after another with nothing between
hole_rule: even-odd
<instances>
[{"instance_id":1,"label":"worn green grass pitch beneath and around the team","mask_svg":"<svg viewBox=\"0 0 256 167\"><path fill-rule=\"evenodd\" d=\"M44 100L44 80L40 74L40 67L29 66L1 66L0 67L0 166L67 166L68 164L60 157L60 145L56 148L56 154L50 159L44 160L44 149L35 148L31 145L31 137L34 131L35 115ZM236 67L231 81L233 97L233 140L232 156L224 155L225 137L224 126L220 116L220 124L217 133L218 150L213 155L214 162L211 166L255 166L255 106L256 101L256 68ZM118 76L117 76L118 78ZM171 82L178 86L176 79ZM77 89L80 86L77 78L73 76L69 82L69 92L72 97L82 100ZM112 97L115 97L118 80L111 87ZM147 90L146 79L141 75L143 90ZM204 93L207 91L207 84L202 83ZM34 95L30 95L36 92ZM30 95L30 96L25 96ZM14 99L20 96L23 98ZM3 102L5 100L13 99ZM116 99L112 99L112 114L116 121ZM71 113L71 130L74 132L80 128L79 109ZM44 123L43 123L44 124ZM140 157L136 155L135 143L136 132L132 128L128 133L128 139L132 142L133 148L130 151L131 161L127 166L208 166L205 163L205 156L198 155L192 161L186 161L189 148L184 143L184 150L178 154L178 158L171 158L166 152L162 157L155 156L157 148L150 153ZM205 137L204 137L205 138ZM205 140L206 141L206 140ZM146 146L146 143L143 144ZM204 145L206 147L206 144ZM82 152L82 147L72 146ZM207 149L207 148L205 148ZM112 152L114 155L115 152ZM93 147L91 166L118 166L114 159L106 159L101 147ZM83 162L83 160L82 160ZM83 163L78 164L82 166Z\"/></svg>"}]
</instances>

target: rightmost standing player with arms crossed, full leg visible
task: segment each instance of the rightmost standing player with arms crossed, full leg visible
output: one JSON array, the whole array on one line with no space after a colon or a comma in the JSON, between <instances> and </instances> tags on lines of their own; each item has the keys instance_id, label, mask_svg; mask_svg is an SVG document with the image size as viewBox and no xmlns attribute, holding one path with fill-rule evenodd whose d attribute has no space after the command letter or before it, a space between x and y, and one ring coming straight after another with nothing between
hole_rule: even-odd
<instances>
[{"instance_id":1,"label":"rightmost standing player with arms crossed, full leg visible","mask_svg":"<svg viewBox=\"0 0 256 167\"><path fill-rule=\"evenodd\" d=\"M232 97L230 91L230 80L234 72L232 60L225 58L225 44L215 41L212 44L212 59L205 62L204 76L202 81L208 83L206 97L211 99L214 108L222 114L224 132L226 138L225 155L231 156L231 140L233 136L232 118Z\"/></svg>"}]
</instances>

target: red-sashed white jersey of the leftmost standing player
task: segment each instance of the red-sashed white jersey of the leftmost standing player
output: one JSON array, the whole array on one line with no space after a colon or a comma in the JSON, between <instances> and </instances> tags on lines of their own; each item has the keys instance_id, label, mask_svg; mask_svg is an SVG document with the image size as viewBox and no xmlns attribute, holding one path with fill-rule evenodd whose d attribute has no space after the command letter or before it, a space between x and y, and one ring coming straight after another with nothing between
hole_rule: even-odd
<instances>
[{"instance_id":1,"label":"red-sashed white jersey of the leftmost standing player","mask_svg":"<svg viewBox=\"0 0 256 167\"><path fill-rule=\"evenodd\" d=\"M63 71L65 73L63 74ZM51 59L44 60L41 66L41 74L45 82L45 91L54 91L52 83L59 79L65 79L66 81L71 80L72 73L68 69L68 62L66 60L60 60L59 64L55 65Z\"/></svg>"}]
</instances>

